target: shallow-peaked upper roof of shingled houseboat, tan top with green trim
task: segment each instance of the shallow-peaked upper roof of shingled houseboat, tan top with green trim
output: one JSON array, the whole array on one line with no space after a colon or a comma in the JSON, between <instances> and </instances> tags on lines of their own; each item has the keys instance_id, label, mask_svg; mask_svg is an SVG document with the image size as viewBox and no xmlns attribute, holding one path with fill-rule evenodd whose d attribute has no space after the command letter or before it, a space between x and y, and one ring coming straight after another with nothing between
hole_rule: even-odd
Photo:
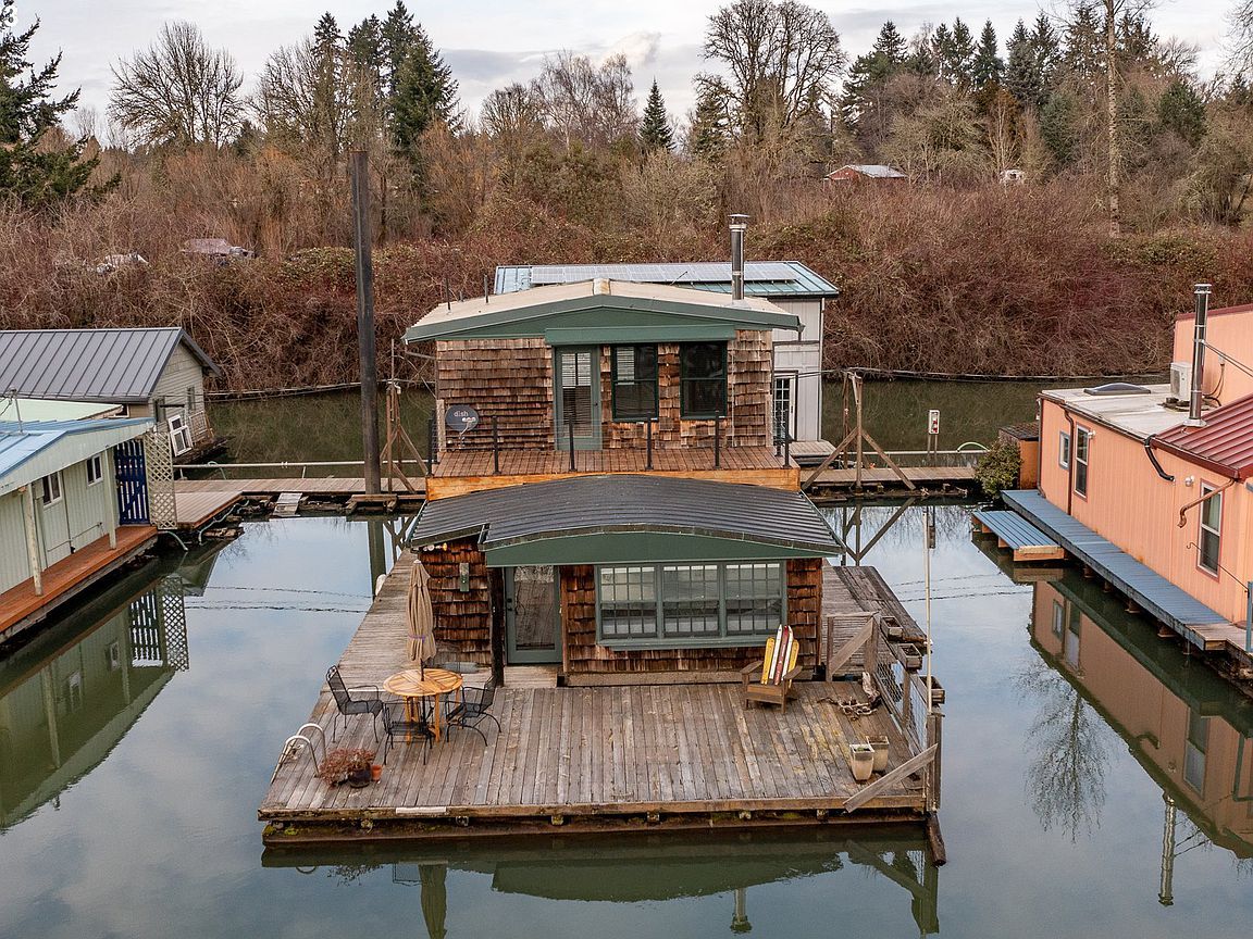
<instances>
[{"instance_id":1,"label":"shallow-peaked upper roof of shingled houseboat, tan top with green trim","mask_svg":"<svg viewBox=\"0 0 1253 939\"><path fill-rule=\"evenodd\" d=\"M560 289L560 288L559 288ZM538 294L536 289L534 293ZM689 293L674 289L672 293ZM694 293L694 292L690 292ZM753 303L688 303L682 298L650 298L621 294L581 294L551 300L520 304L528 293L510 294L509 302L492 304L490 300L477 307L462 307L445 313L432 310L405 332L405 342L430 339L534 339L549 331L578 331L593 336L605 329L652 329L664 327L722 327L724 329L793 329L799 332L801 321L794 313L777 307L763 309ZM492 307L500 307L494 309ZM580 338L575 343L594 343Z\"/></svg>"}]
</instances>

